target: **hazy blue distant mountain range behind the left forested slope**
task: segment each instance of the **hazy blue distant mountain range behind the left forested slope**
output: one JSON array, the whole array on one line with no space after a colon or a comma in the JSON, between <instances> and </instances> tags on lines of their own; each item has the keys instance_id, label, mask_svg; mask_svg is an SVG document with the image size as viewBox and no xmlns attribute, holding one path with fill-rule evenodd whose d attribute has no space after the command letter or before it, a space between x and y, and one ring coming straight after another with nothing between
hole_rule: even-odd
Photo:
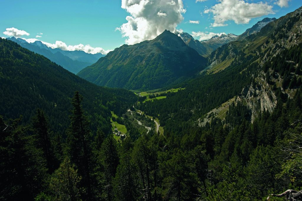
<instances>
[{"instance_id":1,"label":"hazy blue distant mountain range behind the left forested slope","mask_svg":"<svg viewBox=\"0 0 302 201\"><path fill-rule=\"evenodd\" d=\"M68 51L61 50L59 48L52 49L47 47L41 41L28 43L22 38L11 37L7 39L18 43L21 47L27 48L28 50L47 57L51 61L75 74L83 68L95 63L99 58L105 56L101 53L90 54L80 50Z\"/></svg>"}]
</instances>

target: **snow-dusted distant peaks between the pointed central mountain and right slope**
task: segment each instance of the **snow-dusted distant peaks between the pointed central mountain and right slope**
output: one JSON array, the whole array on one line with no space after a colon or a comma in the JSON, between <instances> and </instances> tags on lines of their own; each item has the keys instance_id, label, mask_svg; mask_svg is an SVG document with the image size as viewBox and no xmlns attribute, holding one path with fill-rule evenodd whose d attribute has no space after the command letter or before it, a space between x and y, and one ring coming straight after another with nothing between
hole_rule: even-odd
<instances>
[{"instance_id":1,"label":"snow-dusted distant peaks between the pointed central mountain and right slope","mask_svg":"<svg viewBox=\"0 0 302 201\"><path fill-rule=\"evenodd\" d=\"M231 41L239 41L251 34L255 34L259 32L261 28L264 27L266 24L275 20L276 18L264 18L263 20L253 25L252 28L247 29L243 34L239 36L235 34L221 34L220 36L215 35L208 40L198 41L195 40L193 36L185 32L179 33L178 35L182 38L186 45L196 50L200 55L207 57L218 47L221 47Z\"/></svg>"}]
</instances>

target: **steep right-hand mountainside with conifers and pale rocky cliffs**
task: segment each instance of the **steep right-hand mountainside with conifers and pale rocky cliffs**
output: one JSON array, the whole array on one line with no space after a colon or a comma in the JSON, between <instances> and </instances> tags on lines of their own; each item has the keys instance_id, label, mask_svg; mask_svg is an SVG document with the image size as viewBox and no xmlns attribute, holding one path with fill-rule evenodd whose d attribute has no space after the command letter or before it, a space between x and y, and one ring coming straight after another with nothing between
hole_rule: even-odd
<instances>
[{"instance_id":1,"label":"steep right-hand mountainside with conifers and pale rocky cliffs","mask_svg":"<svg viewBox=\"0 0 302 201\"><path fill-rule=\"evenodd\" d=\"M294 91L288 89L289 82L300 80L301 22L299 8L267 24L257 34L223 45L208 58L214 63L214 73L204 72L188 82L185 90L142 103L140 109L151 116L159 115L161 124L168 124L165 131L178 133L235 96L245 96L252 119L260 111L272 111L277 104L275 91L291 97ZM294 81L292 84L299 87Z\"/></svg>"}]
</instances>

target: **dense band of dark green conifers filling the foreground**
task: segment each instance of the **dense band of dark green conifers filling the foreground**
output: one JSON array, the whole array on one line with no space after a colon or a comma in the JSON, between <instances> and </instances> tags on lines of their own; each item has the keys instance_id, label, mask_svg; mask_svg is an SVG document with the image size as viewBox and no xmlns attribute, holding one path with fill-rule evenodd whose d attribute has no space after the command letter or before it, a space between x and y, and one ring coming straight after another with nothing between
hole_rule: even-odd
<instances>
[{"instance_id":1,"label":"dense band of dark green conifers filling the foreground","mask_svg":"<svg viewBox=\"0 0 302 201\"><path fill-rule=\"evenodd\" d=\"M292 124L295 118L302 118L302 88L293 99L285 102L279 99L281 103L273 113L264 112L253 123L243 120L234 128L196 128L182 137L150 133L134 143L126 138L121 145L110 135L100 148L95 146L96 142L85 138L89 136L88 129L78 130L79 125L86 124L85 117L76 112L78 106L81 107L75 104L79 103L78 97L76 93L73 98L74 112L69 128L76 130L69 133L70 138L63 146L66 156L62 157L50 181L46 179L47 163L41 145L28 141L38 139L37 136L26 137L26 127L18 125L18 120L4 122L1 118L0 127L6 128L5 138L0 142L1 150L14 150L1 152L1 157L7 158L1 163L1 179L12 178L7 165L18 159L16 162L20 166L15 171L19 177L26 172L26 180L18 180L18 189L26 189L28 197L46 200L64 200L62 196L68 195L67 200L261 200L268 193L302 186L298 179L301 171L291 169L297 166L297 160L300 161L300 152L293 150L288 155L281 151L291 148L289 143L297 140L302 131L299 122ZM74 121L79 122L75 124ZM18 143L11 141L16 139L16 133ZM23 160L20 151L25 157ZM69 157L74 159L69 160ZM289 160L284 162L283 158L287 157ZM44 162L37 163L37 160ZM73 182L68 183L68 178ZM36 185L28 186L29 182ZM2 195L8 200L24 195L21 190L11 194L13 185L17 183L2 183Z\"/></svg>"}]
</instances>

